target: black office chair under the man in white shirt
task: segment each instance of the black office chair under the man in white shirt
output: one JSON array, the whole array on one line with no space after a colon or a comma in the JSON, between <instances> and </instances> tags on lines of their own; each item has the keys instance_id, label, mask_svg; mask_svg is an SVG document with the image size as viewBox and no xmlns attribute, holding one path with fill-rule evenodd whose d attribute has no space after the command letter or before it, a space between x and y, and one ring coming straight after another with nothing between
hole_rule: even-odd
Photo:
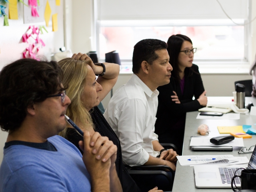
<instances>
[{"instance_id":1,"label":"black office chair under the man in white shirt","mask_svg":"<svg viewBox=\"0 0 256 192\"><path fill-rule=\"evenodd\" d=\"M174 144L171 143L161 143L161 145L166 149L173 149L178 153L178 149ZM174 171L172 168L164 165L142 165L142 166L128 166L126 165L126 170L130 174L130 176L133 178L133 180L136 182L138 187L142 192L147 192L150 189L154 188L155 186L158 186L159 189L163 191L171 191L172 185L174 181ZM172 173L172 178L170 178L169 174L166 171L170 171ZM153 175L153 176L152 176ZM154 176L162 175L163 178L166 178L168 183L166 182L165 187L159 186L158 182L148 182L145 180L147 176L150 176L151 178Z\"/></svg>"}]
</instances>

